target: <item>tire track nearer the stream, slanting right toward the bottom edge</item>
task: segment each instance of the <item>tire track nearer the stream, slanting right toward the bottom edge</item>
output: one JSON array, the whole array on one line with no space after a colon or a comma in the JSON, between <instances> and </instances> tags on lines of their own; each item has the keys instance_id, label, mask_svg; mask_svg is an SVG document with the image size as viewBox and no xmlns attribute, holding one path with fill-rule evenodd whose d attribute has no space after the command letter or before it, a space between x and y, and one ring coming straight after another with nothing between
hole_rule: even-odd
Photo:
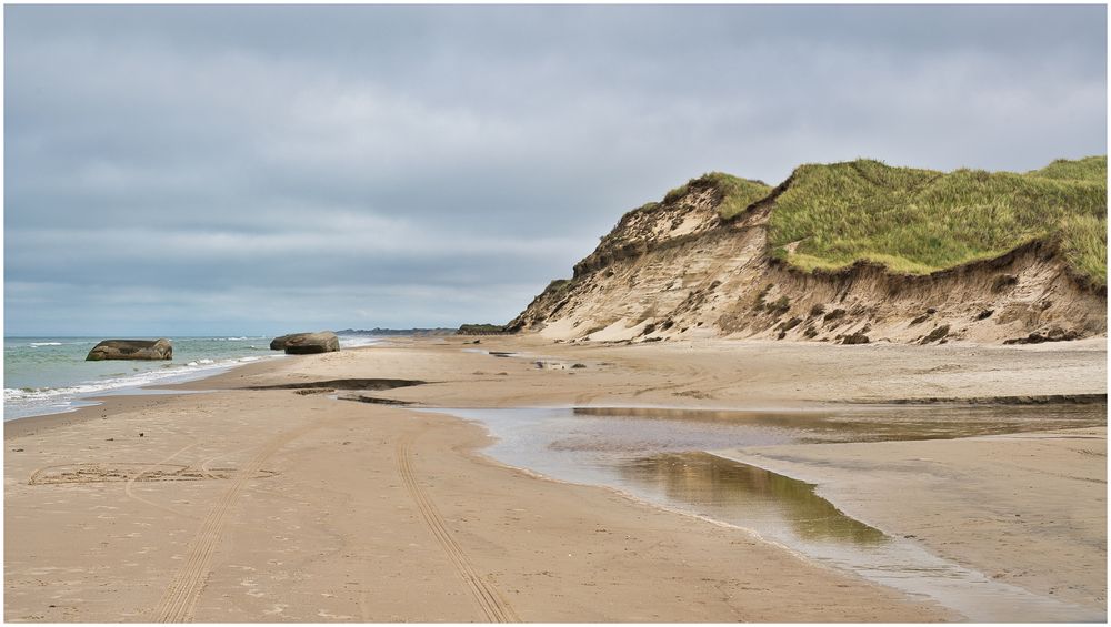
<instances>
[{"instance_id":1,"label":"tire track nearer the stream, slanting right toward the bottom edge","mask_svg":"<svg viewBox=\"0 0 1111 627\"><path fill-rule=\"evenodd\" d=\"M421 517L424 518L424 523L428 524L429 530L432 532L436 543L440 545L440 548L448 555L448 560L451 562L451 565L456 567L463 582L467 583L467 587L470 588L474 600L482 608L487 620L489 623L520 623L521 619L517 616L513 607L502 598L492 584L487 582L474 569L470 559L467 558L467 554L463 553L459 544L448 533L443 516L436 508L436 504L432 503L432 499L429 498L424 489L417 483L412 465L412 444L418 435L412 433L404 434L398 439L397 444L398 474L401 475L401 482L406 485L406 491L409 492L409 495L417 503L417 508L420 510Z\"/></svg>"}]
</instances>

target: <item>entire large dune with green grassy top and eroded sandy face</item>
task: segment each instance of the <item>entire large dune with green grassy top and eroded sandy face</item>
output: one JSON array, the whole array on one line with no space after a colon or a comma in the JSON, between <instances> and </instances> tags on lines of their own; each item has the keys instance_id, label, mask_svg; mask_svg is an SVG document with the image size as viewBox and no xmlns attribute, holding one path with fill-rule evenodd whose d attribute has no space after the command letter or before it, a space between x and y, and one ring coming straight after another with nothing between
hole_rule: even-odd
<instances>
[{"instance_id":1,"label":"entire large dune with green grassy top and eroded sandy face","mask_svg":"<svg viewBox=\"0 0 1111 627\"><path fill-rule=\"evenodd\" d=\"M624 214L507 325L561 341L1038 343L1107 333L1107 156L1028 173L722 173Z\"/></svg>"}]
</instances>

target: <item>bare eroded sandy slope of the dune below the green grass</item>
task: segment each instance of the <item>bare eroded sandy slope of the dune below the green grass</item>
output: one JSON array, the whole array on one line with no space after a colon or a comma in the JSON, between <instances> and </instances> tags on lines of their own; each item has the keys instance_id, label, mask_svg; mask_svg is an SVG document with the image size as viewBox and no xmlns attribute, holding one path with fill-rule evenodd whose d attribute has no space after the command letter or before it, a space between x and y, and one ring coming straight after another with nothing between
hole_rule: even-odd
<instances>
[{"instance_id":1,"label":"bare eroded sandy slope of the dune below the green grass","mask_svg":"<svg viewBox=\"0 0 1111 627\"><path fill-rule=\"evenodd\" d=\"M691 184L681 198L630 212L575 264L572 280L552 282L509 326L549 340L637 342L1002 343L1107 333L1105 290L1078 281L1050 244L923 276L867 263L793 269L768 253L767 224L782 189L732 220L719 216L712 185Z\"/></svg>"}]
</instances>

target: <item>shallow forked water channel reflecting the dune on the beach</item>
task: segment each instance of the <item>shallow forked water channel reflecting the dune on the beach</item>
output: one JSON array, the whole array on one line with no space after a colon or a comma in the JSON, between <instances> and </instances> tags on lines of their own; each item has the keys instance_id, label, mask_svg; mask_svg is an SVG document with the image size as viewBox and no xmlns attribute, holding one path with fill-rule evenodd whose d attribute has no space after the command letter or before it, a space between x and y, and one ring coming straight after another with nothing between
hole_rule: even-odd
<instances>
[{"instance_id":1,"label":"shallow forked water channel reflecting the dune on the beach","mask_svg":"<svg viewBox=\"0 0 1111 627\"><path fill-rule=\"evenodd\" d=\"M995 582L842 514L814 486L708 452L775 444L937 439L1107 424L1105 405L852 407L821 412L660 407L436 409L484 425L484 451L558 481L601 485L754 532L973 621L1105 619Z\"/></svg>"}]
</instances>

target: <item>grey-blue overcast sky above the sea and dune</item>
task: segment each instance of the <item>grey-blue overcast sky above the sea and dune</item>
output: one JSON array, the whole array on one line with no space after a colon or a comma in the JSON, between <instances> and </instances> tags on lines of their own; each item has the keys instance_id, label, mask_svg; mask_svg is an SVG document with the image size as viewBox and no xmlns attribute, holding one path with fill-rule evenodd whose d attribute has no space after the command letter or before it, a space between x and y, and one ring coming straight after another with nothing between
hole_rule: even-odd
<instances>
[{"instance_id":1,"label":"grey-blue overcast sky above the sea and dune","mask_svg":"<svg viewBox=\"0 0 1111 627\"><path fill-rule=\"evenodd\" d=\"M7 6L4 332L507 322L707 171L1103 154L1105 11Z\"/></svg>"}]
</instances>

